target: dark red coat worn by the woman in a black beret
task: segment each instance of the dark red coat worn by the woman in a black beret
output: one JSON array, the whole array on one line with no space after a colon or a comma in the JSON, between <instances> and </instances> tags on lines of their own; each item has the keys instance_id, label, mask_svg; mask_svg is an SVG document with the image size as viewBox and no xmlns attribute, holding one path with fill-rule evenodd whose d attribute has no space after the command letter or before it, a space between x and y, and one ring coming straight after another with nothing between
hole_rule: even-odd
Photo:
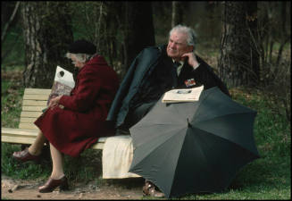
<instances>
[{"instance_id":1,"label":"dark red coat worn by the woman in a black beret","mask_svg":"<svg viewBox=\"0 0 292 201\"><path fill-rule=\"evenodd\" d=\"M116 72L96 55L79 70L71 96L60 99L64 108L49 108L35 124L63 154L79 156L99 137L113 134L105 119L118 87Z\"/></svg>"}]
</instances>

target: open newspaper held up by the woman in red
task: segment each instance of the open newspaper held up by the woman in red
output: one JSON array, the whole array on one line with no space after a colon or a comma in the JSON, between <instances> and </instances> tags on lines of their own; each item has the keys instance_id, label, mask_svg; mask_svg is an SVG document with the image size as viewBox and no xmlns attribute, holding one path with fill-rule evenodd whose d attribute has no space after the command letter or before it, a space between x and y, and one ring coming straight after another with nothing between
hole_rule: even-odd
<instances>
[{"instance_id":1,"label":"open newspaper held up by the woman in red","mask_svg":"<svg viewBox=\"0 0 292 201\"><path fill-rule=\"evenodd\" d=\"M47 99L46 105L48 105L50 100L55 96L70 95L74 86L75 81L73 79L73 74L70 71L64 70L62 67L57 66L52 91ZM43 112L45 111L46 109L43 110Z\"/></svg>"}]
</instances>

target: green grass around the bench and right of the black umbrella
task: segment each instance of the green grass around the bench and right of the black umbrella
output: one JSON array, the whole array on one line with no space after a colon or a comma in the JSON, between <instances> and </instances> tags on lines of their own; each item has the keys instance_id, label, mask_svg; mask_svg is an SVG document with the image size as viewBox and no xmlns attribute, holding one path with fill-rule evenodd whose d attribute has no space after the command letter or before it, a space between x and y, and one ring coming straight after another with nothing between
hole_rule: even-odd
<instances>
[{"instance_id":1,"label":"green grass around the bench and right of the black umbrella","mask_svg":"<svg viewBox=\"0 0 292 201\"><path fill-rule=\"evenodd\" d=\"M2 126L14 128L18 126L23 89L19 81L2 80ZM259 90L232 88L230 93L235 101L257 111L254 140L261 158L246 164L238 171L229 188L221 193L192 194L173 199L290 199L290 122L285 116L270 109L265 96ZM50 158L40 164L18 163L11 155L13 151L21 149L20 145L2 143L1 149L1 169L4 175L15 179L44 180L50 175L52 170ZM71 182L96 180L97 186L108 183L127 186L127 180L123 182L101 179L101 155L100 150L88 149L79 158L65 156L65 174Z\"/></svg>"}]
</instances>

